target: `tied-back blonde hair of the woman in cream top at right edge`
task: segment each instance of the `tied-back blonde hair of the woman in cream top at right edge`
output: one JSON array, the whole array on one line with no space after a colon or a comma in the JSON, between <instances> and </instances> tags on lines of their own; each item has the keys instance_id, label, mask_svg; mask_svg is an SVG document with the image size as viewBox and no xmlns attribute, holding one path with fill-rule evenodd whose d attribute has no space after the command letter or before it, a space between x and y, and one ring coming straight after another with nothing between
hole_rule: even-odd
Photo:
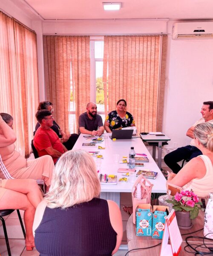
<instances>
[{"instance_id":1,"label":"tied-back blonde hair of the woman in cream top at right edge","mask_svg":"<svg viewBox=\"0 0 213 256\"><path fill-rule=\"evenodd\" d=\"M211 123L206 122L196 125L194 137L199 140L204 148L213 152L213 125Z\"/></svg>"}]
</instances>

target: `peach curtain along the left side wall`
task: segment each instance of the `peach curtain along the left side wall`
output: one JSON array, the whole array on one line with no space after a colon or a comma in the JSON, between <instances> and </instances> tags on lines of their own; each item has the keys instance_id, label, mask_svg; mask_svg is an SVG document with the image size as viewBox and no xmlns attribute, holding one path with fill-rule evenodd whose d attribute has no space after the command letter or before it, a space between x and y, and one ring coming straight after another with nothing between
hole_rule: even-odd
<instances>
[{"instance_id":1,"label":"peach curtain along the left side wall","mask_svg":"<svg viewBox=\"0 0 213 256\"><path fill-rule=\"evenodd\" d=\"M29 156L38 104L36 34L0 12L0 112L14 117L16 149Z\"/></svg>"}]
</instances>

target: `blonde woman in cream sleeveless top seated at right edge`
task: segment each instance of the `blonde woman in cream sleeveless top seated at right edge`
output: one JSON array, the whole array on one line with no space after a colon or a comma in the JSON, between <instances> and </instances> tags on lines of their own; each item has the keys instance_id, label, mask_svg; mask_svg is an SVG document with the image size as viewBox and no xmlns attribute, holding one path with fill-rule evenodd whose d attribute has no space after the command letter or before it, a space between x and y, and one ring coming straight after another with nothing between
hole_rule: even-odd
<instances>
[{"instance_id":1,"label":"blonde woman in cream sleeveless top seated at right edge","mask_svg":"<svg viewBox=\"0 0 213 256\"><path fill-rule=\"evenodd\" d=\"M196 147L202 155L190 160L178 174L169 173L167 183L193 189L199 197L213 192L213 125L209 122L196 125L194 129Z\"/></svg>"}]
</instances>

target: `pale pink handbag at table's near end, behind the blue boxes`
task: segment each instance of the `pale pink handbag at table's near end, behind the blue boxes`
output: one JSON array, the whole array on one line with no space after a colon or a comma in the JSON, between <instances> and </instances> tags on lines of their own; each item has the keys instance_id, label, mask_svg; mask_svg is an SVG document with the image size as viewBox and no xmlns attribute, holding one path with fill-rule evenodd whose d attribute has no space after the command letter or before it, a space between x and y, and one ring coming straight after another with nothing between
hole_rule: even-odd
<instances>
[{"instance_id":1,"label":"pale pink handbag at table's near end, behind the blue boxes","mask_svg":"<svg viewBox=\"0 0 213 256\"><path fill-rule=\"evenodd\" d=\"M139 197L137 198L137 186L140 184ZM139 187L139 186L138 186ZM150 204L151 203L151 192L153 184L147 180L142 174L138 176L134 185L132 186L132 206L133 206L133 223L135 224L135 210L138 204Z\"/></svg>"}]
</instances>

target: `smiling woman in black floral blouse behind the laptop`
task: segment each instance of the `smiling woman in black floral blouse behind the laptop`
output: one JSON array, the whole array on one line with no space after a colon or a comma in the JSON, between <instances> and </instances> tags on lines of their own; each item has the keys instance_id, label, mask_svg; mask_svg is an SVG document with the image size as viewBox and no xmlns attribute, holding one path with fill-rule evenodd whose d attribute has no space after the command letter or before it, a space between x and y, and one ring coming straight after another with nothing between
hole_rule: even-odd
<instances>
[{"instance_id":1,"label":"smiling woman in black floral blouse behind the laptop","mask_svg":"<svg viewBox=\"0 0 213 256\"><path fill-rule=\"evenodd\" d=\"M116 110L110 112L104 122L104 128L107 132L114 129L122 129L124 127L135 126L133 116L126 111L127 102L119 99L116 104Z\"/></svg>"}]
</instances>

